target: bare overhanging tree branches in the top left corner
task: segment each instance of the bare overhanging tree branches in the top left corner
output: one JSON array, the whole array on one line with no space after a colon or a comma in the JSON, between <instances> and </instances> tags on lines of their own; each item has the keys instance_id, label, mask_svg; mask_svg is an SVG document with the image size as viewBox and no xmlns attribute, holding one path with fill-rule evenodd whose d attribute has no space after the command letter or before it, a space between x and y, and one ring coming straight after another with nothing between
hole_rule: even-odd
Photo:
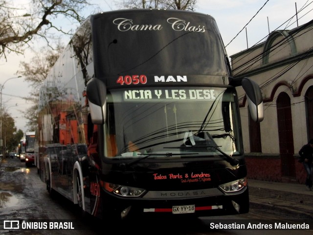
<instances>
[{"instance_id":1,"label":"bare overhanging tree branches in the top left corner","mask_svg":"<svg viewBox=\"0 0 313 235\"><path fill-rule=\"evenodd\" d=\"M7 59L7 53L23 54L30 41L43 38L49 47L51 37L72 34L76 28L65 31L55 22L64 18L81 24L80 13L89 5L87 0L31 0L28 9L17 8L8 0L0 0L0 58ZM26 11L27 10L27 11Z\"/></svg>"}]
</instances>

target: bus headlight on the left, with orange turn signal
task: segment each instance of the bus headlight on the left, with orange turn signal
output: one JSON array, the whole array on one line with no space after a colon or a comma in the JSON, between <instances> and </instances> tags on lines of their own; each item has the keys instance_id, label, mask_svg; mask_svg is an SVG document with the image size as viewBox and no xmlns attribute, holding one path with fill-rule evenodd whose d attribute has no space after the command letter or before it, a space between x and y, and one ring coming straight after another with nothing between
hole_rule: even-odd
<instances>
[{"instance_id":1,"label":"bus headlight on the left, with orange turn signal","mask_svg":"<svg viewBox=\"0 0 313 235\"><path fill-rule=\"evenodd\" d=\"M146 190L142 188L134 188L128 187L123 185L116 185L104 182L104 189L106 191L112 192L116 195L123 196L123 197L139 197L141 196Z\"/></svg>"}]
</instances>

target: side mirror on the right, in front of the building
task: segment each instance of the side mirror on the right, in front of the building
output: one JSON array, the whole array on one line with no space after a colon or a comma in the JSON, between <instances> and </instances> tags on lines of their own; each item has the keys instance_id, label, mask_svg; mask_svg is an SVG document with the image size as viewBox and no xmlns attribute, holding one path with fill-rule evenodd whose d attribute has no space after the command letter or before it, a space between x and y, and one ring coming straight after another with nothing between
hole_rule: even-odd
<instances>
[{"instance_id":1,"label":"side mirror on the right, in front of the building","mask_svg":"<svg viewBox=\"0 0 313 235\"><path fill-rule=\"evenodd\" d=\"M244 77L242 79L242 86L246 92L251 118L255 122L262 121L264 118L263 98L259 85L250 78Z\"/></svg>"}]
</instances>

